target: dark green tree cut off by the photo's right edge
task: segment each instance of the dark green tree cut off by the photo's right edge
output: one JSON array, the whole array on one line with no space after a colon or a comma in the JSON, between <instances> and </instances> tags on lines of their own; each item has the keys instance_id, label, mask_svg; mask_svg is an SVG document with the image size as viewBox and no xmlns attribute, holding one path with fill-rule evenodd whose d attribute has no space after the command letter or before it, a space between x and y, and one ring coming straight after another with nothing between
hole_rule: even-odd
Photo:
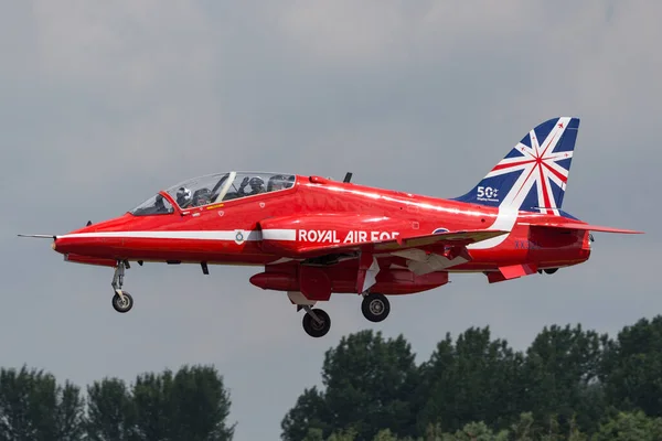
<instances>
[{"instance_id":1,"label":"dark green tree cut off by the photo's right edge","mask_svg":"<svg viewBox=\"0 0 662 441\"><path fill-rule=\"evenodd\" d=\"M662 417L662 315L624 326L604 358L600 378L609 402Z\"/></svg>"}]
</instances>

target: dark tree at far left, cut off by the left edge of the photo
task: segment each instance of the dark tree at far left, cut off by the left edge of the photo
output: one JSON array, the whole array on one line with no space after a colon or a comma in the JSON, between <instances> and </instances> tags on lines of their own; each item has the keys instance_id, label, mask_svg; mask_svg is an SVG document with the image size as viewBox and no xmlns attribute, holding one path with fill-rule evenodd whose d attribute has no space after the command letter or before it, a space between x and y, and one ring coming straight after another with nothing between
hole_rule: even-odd
<instances>
[{"instance_id":1,"label":"dark tree at far left, cut off by the left edge of the photo","mask_svg":"<svg viewBox=\"0 0 662 441\"><path fill-rule=\"evenodd\" d=\"M79 389L68 381L26 366L0 369L0 440L81 440L83 412Z\"/></svg>"}]
</instances>

